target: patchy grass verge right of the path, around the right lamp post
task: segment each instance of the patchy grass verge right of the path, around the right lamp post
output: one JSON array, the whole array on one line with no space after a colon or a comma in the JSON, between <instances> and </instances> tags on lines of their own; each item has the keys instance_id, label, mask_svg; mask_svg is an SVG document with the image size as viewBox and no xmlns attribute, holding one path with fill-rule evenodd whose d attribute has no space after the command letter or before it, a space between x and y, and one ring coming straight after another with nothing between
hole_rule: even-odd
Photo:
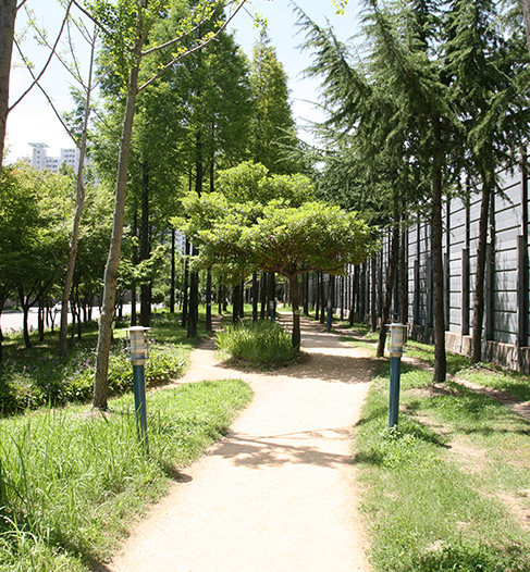
<instances>
[{"instance_id":1,"label":"patchy grass verge right of the path, around the right lamp post","mask_svg":"<svg viewBox=\"0 0 530 572\"><path fill-rule=\"evenodd\" d=\"M432 348L406 353L429 361ZM447 361L472 374L465 358ZM530 423L403 363L399 426L389 431L389 378L381 362L354 444L374 570L530 571ZM490 382L511 393L521 380L503 372Z\"/></svg>"}]
</instances>

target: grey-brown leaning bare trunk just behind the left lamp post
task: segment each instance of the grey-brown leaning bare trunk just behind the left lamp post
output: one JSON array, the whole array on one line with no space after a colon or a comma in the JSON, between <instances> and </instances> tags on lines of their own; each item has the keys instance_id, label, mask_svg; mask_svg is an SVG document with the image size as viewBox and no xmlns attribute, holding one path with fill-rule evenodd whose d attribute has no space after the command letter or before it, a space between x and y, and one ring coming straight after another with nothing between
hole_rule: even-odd
<instances>
[{"instance_id":1,"label":"grey-brown leaning bare trunk just behind the left lamp post","mask_svg":"<svg viewBox=\"0 0 530 572\"><path fill-rule=\"evenodd\" d=\"M109 355L112 340L112 319L114 318L114 301L118 285L118 265L122 248L123 221L125 215L125 197L127 192L128 157L133 133L134 111L138 92L139 59L143 42L143 13L138 10L137 34L134 48L134 63L127 85L127 100L120 140L120 159L118 162L116 190L114 201L114 219L109 257L103 275L103 304L99 319L98 344L96 349L96 375L94 382L93 406L107 409Z\"/></svg>"}]
</instances>

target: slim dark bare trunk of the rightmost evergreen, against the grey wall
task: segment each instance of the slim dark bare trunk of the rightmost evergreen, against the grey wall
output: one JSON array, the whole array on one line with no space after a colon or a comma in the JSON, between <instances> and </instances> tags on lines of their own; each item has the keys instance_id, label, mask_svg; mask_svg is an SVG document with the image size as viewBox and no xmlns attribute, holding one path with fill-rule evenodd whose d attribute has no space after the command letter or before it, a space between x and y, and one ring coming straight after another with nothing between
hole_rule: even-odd
<instances>
[{"instance_id":1,"label":"slim dark bare trunk of the rightmost evergreen, against the grey wall","mask_svg":"<svg viewBox=\"0 0 530 572\"><path fill-rule=\"evenodd\" d=\"M471 363L482 361L482 325L484 319L484 276L488 246L488 220L490 213L491 187L482 176L482 199L480 203L479 241L477 245L477 274L474 276L473 322L471 336Z\"/></svg>"}]
</instances>

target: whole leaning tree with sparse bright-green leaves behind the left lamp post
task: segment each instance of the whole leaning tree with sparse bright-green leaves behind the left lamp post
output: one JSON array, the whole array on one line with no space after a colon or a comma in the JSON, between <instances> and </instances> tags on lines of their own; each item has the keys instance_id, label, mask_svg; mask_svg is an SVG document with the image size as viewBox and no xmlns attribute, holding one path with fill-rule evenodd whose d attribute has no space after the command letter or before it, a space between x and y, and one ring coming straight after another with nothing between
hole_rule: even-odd
<instances>
[{"instance_id":1,"label":"whole leaning tree with sparse bright-green leaves behind the left lamp post","mask_svg":"<svg viewBox=\"0 0 530 572\"><path fill-rule=\"evenodd\" d=\"M109 257L103 276L103 300L99 321L93 396L93 406L95 408L107 408L107 375L109 370L112 320L114 316L118 266L123 236L128 159L136 98L138 94L155 83L183 58L202 49L207 43L212 41L244 3L245 0L234 0L230 2L208 2L206 0L199 0L188 16L182 17L176 23L175 29L172 30L173 35L168 41L151 46L148 41L149 32L153 24L159 18L165 17L167 11L173 8L171 1L159 0L147 3L146 0L119 0L118 2L93 0L87 2L95 21L102 26L101 34L104 49L112 59L120 63L119 72L123 80L122 85L124 86L124 90L126 90L115 184L114 219ZM234 12L215 32L199 37L190 48L183 47L182 40L184 37L194 34L205 22L217 18L218 11L227 7L234 8ZM165 50L171 46L173 46L174 49L170 60L140 85L139 72L143 62L152 54Z\"/></svg>"}]
</instances>

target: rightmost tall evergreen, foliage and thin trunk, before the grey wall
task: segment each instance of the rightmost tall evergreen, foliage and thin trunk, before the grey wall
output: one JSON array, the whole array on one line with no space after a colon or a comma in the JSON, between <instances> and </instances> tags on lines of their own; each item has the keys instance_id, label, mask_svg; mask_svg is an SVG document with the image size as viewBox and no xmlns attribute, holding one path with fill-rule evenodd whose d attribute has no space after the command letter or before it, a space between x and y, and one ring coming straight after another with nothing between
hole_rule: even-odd
<instances>
[{"instance_id":1,"label":"rightmost tall evergreen, foliage and thin trunk, before the grey wall","mask_svg":"<svg viewBox=\"0 0 530 572\"><path fill-rule=\"evenodd\" d=\"M517 160L529 135L528 53L522 35L507 38L493 0L456 0L447 14L445 53L452 100L465 129L465 164L480 187L471 361L482 360L490 204L497 172Z\"/></svg>"}]
</instances>

